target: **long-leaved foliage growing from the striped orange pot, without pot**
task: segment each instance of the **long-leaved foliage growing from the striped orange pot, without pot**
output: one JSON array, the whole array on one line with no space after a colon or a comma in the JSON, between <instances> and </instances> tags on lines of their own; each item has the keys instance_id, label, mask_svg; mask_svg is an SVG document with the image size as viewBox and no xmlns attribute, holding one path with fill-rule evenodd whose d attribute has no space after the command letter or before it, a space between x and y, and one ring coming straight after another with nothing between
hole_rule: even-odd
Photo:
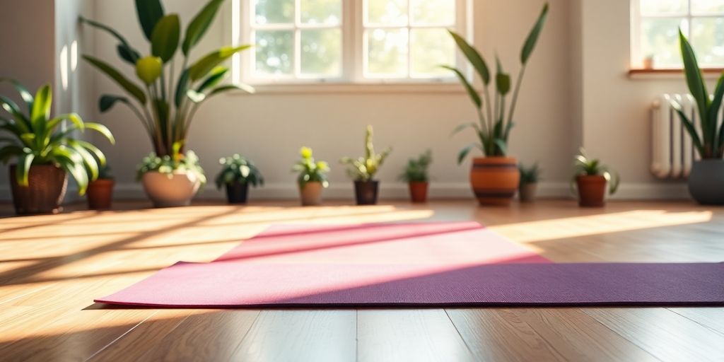
<instances>
[{"instance_id":1,"label":"long-leaved foliage growing from the striped orange pot, without pot","mask_svg":"<svg viewBox=\"0 0 724 362\"><path fill-rule=\"evenodd\" d=\"M468 95L470 96L473 104L475 105L478 122L466 123L458 126L453 133L458 133L467 128L473 128L476 135L480 139L479 143L473 143L463 148L458 153L458 164L462 163L463 160L468 156L473 149L479 148L486 156L505 156L508 153L508 138L510 137L510 130L513 128L513 117L515 115L515 106L518 105L518 93L521 90L521 84L523 83L523 75L525 75L526 67L531 55L538 42L539 35L543 29L543 25L546 22L548 16L548 4L545 4L543 11L541 12L538 20L536 21L533 30L531 30L526 42L523 44L523 50L521 50L521 70L518 73L518 78L515 81L515 89L511 87L511 77L508 73L503 70L500 59L496 56L496 71L494 77L490 74L487 62L485 62L483 56L477 51L471 44L469 44L462 36L455 32L450 31L450 35L458 44L458 48L473 65L476 73L480 76L483 83L483 95L481 96L473 85L468 81L465 73L452 66L443 66L448 70L455 72L458 75L460 83L462 83ZM493 84L495 87L494 100L491 101L489 87ZM510 90L513 90L513 98L508 106L508 94Z\"/></svg>"}]
</instances>

